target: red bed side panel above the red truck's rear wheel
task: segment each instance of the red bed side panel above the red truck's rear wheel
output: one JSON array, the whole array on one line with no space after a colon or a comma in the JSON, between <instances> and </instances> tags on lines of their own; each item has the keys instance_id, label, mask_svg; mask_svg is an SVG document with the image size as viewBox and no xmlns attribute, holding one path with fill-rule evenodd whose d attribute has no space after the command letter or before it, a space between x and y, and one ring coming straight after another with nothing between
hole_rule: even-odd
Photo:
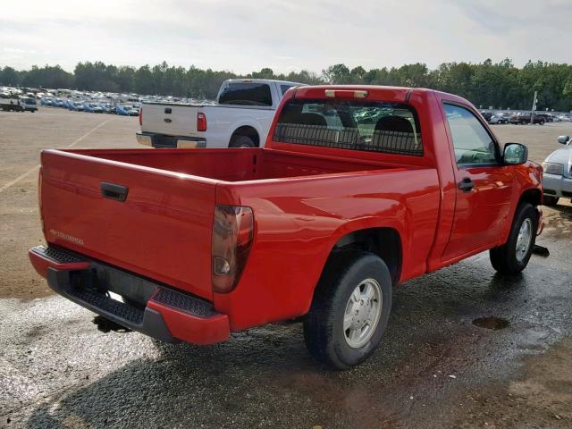
<instances>
[{"instance_id":1,"label":"red bed side panel above the red truck's rear wheel","mask_svg":"<svg viewBox=\"0 0 572 429\"><path fill-rule=\"evenodd\" d=\"M307 312L334 244L351 231L390 227L400 234L401 280L425 273L440 190L431 168L354 172L286 182L217 186L217 202L253 207L256 238L236 290L214 295L231 329ZM264 305L263 305L264 303Z\"/></svg>"}]
</instances>

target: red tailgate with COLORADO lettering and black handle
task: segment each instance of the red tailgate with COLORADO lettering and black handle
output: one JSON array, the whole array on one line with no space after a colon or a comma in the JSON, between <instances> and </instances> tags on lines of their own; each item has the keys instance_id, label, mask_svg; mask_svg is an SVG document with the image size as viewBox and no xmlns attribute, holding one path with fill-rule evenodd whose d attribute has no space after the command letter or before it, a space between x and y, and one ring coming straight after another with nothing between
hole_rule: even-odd
<instances>
[{"instance_id":1,"label":"red tailgate with COLORADO lettering and black handle","mask_svg":"<svg viewBox=\"0 0 572 429\"><path fill-rule=\"evenodd\" d=\"M212 299L216 181L56 150L41 157L48 243ZM104 198L102 182L128 188L125 201Z\"/></svg>"}]
</instances>

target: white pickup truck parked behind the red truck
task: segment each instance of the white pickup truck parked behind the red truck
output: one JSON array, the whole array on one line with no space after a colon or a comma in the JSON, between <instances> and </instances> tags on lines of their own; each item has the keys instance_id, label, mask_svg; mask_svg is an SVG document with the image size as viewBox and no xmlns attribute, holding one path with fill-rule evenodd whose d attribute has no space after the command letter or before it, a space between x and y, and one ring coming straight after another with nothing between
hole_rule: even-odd
<instances>
[{"instance_id":1,"label":"white pickup truck parked behind the red truck","mask_svg":"<svg viewBox=\"0 0 572 429\"><path fill-rule=\"evenodd\" d=\"M284 80L224 80L216 105L143 103L137 141L152 147L261 147L284 93Z\"/></svg>"}]
</instances>

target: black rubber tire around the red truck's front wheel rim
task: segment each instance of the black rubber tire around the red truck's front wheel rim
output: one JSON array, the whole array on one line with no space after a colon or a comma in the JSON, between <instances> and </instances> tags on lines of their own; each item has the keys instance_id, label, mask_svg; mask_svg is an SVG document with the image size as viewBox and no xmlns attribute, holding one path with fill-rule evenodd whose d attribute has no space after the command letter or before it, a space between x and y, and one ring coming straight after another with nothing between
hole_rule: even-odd
<instances>
[{"instance_id":1,"label":"black rubber tire around the red truck's front wheel rim","mask_svg":"<svg viewBox=\"0 0 572 429\"><path fill-rule=\"evenodd\" d=\"M531 237L524 257L517 257L517 240L520 227L526 220L530 221ZM538 230L538 212L533 205L523 203L517 207L517 213L512 221L509 231L509 240L498 248L489 251L492 267L503 274L520 273L528 265L533 254L536 231Z\"/></svg>"}]
</instances>

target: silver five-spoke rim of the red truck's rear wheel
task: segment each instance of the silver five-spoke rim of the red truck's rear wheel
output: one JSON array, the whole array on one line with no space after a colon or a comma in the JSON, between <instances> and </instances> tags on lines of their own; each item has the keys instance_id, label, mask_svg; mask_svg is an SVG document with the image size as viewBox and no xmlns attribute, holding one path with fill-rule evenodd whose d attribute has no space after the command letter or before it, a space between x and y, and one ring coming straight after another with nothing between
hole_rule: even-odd
<instances>
[{"instance_id":1,"label":"silver five-spoke rim of the red truck's rear wheel","mask_svg":"<svg viewBox=\"0 0 572 429\"><path fill-rule=\"evenodd\" d=\"M343 317L344 338L349 347L362 347L374 335L382 315L382 288L374 279L366 279L351 292Z\"/></svg>"}]
</instances>

